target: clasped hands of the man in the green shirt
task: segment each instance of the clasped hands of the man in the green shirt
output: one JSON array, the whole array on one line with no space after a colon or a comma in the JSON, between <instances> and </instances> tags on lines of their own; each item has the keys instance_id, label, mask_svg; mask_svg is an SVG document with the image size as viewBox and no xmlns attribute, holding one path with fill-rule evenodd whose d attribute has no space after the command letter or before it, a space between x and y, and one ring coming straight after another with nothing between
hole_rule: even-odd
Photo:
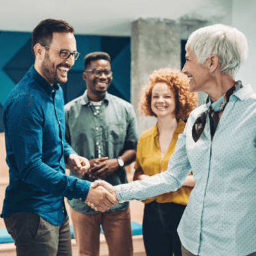
<instances>
[{"instance_id":1,"label":"clasped hands of the man in the green shirt","mask_svg":"<svg viewBox=\"0 0 256 256\"><path fill-rule=\"evenodd\" d=\"M117 171L119 165L117 159L108 159L107 157L96 158L91 165L88 174L92 178L106 178ZM92 161L90 160L90 161Z\"/></svg>"}]
</instances>

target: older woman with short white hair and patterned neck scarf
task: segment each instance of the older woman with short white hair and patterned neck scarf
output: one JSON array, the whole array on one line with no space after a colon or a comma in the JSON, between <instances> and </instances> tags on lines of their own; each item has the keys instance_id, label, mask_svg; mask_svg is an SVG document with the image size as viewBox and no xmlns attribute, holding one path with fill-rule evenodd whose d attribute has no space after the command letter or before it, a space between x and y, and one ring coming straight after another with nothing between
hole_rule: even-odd
<instances>
[{"instance_id":1,"label":"older woman with short white hair and patterned neck scarf","mask_svg":"<svg viewBox=\"0 0 256 256\"><path fill-rule=\"evenodd\" d=\"M221 24L191 34L183 72L191 92L209 97L191 112L166 172L115 187L119 201L144 200L175 191L193 170L182 255L256 255L256 94L234 80L247 47L241 31Z\"/></svg>"}]
</instances>

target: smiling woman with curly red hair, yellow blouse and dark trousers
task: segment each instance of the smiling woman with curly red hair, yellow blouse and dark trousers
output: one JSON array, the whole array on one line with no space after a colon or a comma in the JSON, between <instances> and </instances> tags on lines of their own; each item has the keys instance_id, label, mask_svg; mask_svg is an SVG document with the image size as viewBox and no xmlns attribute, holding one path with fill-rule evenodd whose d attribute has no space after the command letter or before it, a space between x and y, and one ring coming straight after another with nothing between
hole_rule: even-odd
<instances>
[{"instance_id":1,"label":"smiling woman with curly red hair, yellow blouse and dark trousers","mask_svg":"<svg viewBox=\"0 0 256 256\"><path fill-rule=\"evenodd\" d=\"M185 127L182 120L189 117L196 103L196 95L189 92L189 80L180 71L159 69L149 76L141 112L157 117L157 124L139 139L133 180L166 171L178 135ZM144 200L143 239L148 256L182 255L176 229L193 187L194 178L189 175L178 191Z\"/></svg>"}]
</instances>

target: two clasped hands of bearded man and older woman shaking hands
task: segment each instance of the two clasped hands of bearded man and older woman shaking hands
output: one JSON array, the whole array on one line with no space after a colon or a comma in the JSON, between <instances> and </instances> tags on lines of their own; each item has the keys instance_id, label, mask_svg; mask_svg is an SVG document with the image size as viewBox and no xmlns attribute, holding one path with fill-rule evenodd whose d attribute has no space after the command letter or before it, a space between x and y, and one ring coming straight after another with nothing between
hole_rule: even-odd
<instances>
[{"instance_id":1,"label":"two clasped hands of bearded man and older woman shaking hands","mask_svg":"<svg viewBox=\"0 0 256 256\"><path fill-rule=\"evenodd\" d=\"M118 203L115 189L104 180L96 180L90 185L85 203L92 209L105 212Z\"/></svg>"}]
</instances>

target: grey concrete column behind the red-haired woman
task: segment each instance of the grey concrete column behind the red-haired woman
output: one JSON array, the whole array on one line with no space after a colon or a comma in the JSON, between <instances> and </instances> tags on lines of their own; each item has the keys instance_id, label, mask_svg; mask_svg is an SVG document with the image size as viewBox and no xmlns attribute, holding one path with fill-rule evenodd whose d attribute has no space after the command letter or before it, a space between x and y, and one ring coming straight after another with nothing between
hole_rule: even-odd
<instances>
[{"instance_id":1,"label":"grey concrete column behind the red-haired woman","mask_svg":"<svg viewBox=\"0 0 256 256\"><path fill-rule=\"evenodd\" d=\"M131 101L137 114L140 133L156 123L138 110L141 88L152 71L164 67L180 69L180 37L175 21L138 19L132 23Z\"/></svg>"}]
</instances>

